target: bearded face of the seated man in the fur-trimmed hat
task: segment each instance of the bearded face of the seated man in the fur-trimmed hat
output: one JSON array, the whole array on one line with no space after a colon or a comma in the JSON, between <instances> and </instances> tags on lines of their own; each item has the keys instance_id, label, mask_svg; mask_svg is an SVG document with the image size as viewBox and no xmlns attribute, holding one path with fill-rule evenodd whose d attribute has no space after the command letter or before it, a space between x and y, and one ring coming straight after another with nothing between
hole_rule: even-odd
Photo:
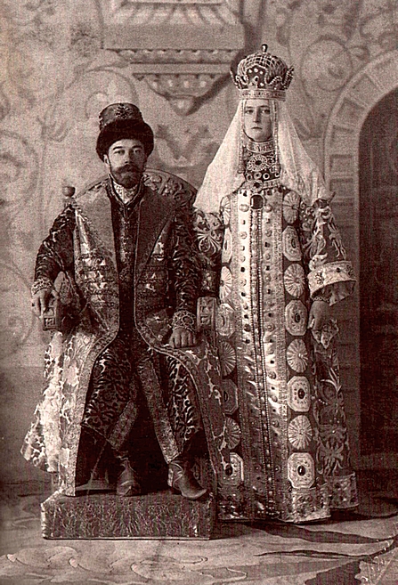
<instances>
[{"instance_id":1,"label":"bearded face of the seated man in the fur-trimmed hat","mask_svg":"<svg viewBox=\"0 0 398 585\"><path fill-rule=\"evenodd\" d=\"M117 183L131 189L140 183L146 163L143 144L135 138L113 142L103 160Z\"/></svg>"}]
</instances>

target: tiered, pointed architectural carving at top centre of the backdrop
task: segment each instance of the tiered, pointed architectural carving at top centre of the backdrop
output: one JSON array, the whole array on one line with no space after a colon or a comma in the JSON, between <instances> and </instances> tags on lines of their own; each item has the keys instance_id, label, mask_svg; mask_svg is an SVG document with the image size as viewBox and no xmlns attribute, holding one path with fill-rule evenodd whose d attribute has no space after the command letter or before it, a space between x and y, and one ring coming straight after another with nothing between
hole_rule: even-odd
<instances>
[{"instance_id":1,"label":"tiered, pointed architectural carving at top centre of the backdrop","mask_svg":"<svg viewBox=\"0 0 398 585\"><path fill-rule=\"evenodd\" d=\"M239 12L240 0L117 0L110 5L105 47L186 115L228 78L244 46Z\"/></svg>"}]
</instances>

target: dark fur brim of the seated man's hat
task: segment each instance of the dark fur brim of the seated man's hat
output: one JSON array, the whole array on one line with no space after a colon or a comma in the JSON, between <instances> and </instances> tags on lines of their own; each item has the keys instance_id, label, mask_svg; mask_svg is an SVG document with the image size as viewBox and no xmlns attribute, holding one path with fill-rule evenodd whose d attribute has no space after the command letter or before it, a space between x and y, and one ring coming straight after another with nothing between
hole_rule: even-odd
<instances>
[{"instance_id":1,"label":"dark fur brim of the seated man's hat","mask_svg":"<svg viewBox=\"0 0 398 585\"><path fill-rule=\"evenodd\" d=\"M152 128L143 121L133 120L115 120L104 126L97 139L97 154L103 160L103 156L108 154L110 146L118 140L131 138L139 140L143 144L147 157L153 150L153 132Z\"/></svg>"}]
</instances>

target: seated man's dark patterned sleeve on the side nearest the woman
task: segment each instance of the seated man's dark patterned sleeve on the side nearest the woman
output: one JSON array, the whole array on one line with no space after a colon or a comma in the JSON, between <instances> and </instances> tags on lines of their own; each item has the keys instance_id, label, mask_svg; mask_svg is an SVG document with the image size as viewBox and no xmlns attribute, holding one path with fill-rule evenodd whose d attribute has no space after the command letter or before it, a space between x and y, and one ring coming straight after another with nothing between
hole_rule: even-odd
<instances>
[{"instance_id":1,"label":"seated man's dark patterned sleeve on the side nearest the woman","mask_svg":"<svg viewBox=\"0 0 398 585\"><path fill-rule=\"evenodd\" d=\"M175 313L188 311L196 318L200 266L191 212L185 207L179 207L175 212L173 237L168 254L168 272L174 289Z\"/></svg>"}]
</instances>

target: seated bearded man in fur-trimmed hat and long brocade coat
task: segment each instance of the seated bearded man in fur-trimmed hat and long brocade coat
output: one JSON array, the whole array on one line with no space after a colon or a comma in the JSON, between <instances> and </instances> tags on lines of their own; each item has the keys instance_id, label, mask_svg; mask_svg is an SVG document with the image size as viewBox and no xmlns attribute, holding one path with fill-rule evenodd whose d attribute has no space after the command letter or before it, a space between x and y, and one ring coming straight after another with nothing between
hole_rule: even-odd
<instances>
[{"instance_id":1,"label":"seated bearded man in fur-trimmed hat and long brocade coat","mask_svg":"<svg viewBox=\"0 0 398 585\"><path fill-rule=\"evenodd\" d=\"M109 175L70 202L37 255L34 312L45 315L63 273L73 319L46 353L44 398L22 452L58 472L67 495L90 473L93 480L105 451L118 461L118 495L142 492L143 410L171 488L192 500L206 493L189 455L200 435L215 475L229 471L217 362L204 341L196 345L199 271L189 216L143 183L152 149L152 130L134 104L102 110L96 150Z\"/></svg>"}]
</instances>

